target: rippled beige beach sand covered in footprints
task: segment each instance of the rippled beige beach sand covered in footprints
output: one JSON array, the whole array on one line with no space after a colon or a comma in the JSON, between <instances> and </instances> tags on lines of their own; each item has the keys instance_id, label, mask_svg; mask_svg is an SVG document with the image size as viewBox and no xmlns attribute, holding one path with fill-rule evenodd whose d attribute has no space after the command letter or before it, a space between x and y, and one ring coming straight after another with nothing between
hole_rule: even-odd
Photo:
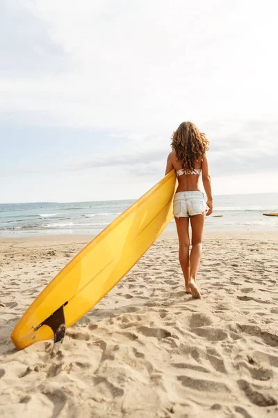
<instances>
[{"instance_id":1,"label":"rippled beige beach sand covered in footprints","mask_svg":"<svg viewBox=\"0 0 278 418\"><path fill-rule=\"evenodd\" d=\"M10 332L87 236L0 240L1 417L278 417L275 233L206 234L186 295L164 234L63 344Z\"/></svg>"}]
</instances>

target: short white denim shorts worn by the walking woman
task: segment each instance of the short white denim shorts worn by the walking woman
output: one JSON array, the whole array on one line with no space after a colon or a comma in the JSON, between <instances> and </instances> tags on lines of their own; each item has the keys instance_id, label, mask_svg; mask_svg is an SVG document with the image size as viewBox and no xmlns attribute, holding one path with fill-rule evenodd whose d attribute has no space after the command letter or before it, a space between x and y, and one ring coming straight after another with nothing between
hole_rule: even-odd
<instances>
[{"instance_id":1,"label":"short white denim shorts worn by the walking woman","mask_svg":"<svg viewBox=\"0 0 278 418\"><path fill-rule=\"evenodd\" d=\"M206 211L206 201L203 192L178 192L174 195L174 217L190 217L202 215Z\"/></svg>"}]
</instances>

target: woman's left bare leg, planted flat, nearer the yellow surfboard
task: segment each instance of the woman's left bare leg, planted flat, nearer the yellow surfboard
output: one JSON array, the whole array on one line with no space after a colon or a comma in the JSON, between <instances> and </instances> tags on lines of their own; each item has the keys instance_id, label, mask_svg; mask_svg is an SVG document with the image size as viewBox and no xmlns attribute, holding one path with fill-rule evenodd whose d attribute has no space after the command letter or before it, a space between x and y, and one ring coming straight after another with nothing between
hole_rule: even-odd
<instances>
[{"instance_id":1,"label":"woman's left bare leg, planted flat, nearer the yellow surfboard","mask_svg":"<svg viewBox=\"0 0 278 418\"><path fill-rule=\"evenodd\" d=\"M188 233L188 220L186 217L175 217L177 225L177 233L179 236L179 263L181 264L181 270L183 271L183 277L186 284L186 292L190 293L188 287L188 281L190 279L190 259L189 259L189 233Z\"/></svg>"}]
</instances>

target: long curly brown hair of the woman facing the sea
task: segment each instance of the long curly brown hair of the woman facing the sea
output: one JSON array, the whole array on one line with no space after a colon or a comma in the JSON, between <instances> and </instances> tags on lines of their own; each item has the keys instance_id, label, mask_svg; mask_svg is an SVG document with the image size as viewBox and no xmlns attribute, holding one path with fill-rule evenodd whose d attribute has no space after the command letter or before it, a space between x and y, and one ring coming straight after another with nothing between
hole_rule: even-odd
<instances>
[{"instance_id":1,"label":"long curly brown hair of the woman facing the sea","mask_svg":"<svg viewBox=\"0 0 278 418\"><path fill-rule=\"evenodd\" d=\"M195 162L206 153L209 141L206 134L199 132L194 123L182 122L172 134L171 147L183 169L189 171L195 168Z\"/></svg>"}]
</instances>

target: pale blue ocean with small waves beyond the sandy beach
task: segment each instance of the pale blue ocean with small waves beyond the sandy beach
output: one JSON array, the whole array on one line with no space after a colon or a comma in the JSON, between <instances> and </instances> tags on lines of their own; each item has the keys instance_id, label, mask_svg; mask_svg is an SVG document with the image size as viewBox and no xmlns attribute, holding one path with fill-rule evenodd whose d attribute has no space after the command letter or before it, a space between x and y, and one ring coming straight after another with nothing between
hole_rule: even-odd
<instances>
[{"instance_id":1,"label":"pale blue ocean with small waves beyond the sandy beach","mask_svg":"<svg viewBox=\"0 0 278 418\"><path fill-rule=\"evenodd\" d=\"M278 193L214 196L207 231L278 231ZM49 234L97 235L134 200L78 203L0 204L0 236ZM165 231L174 231L174 220Z\"/></svg>"}]
</instances>

